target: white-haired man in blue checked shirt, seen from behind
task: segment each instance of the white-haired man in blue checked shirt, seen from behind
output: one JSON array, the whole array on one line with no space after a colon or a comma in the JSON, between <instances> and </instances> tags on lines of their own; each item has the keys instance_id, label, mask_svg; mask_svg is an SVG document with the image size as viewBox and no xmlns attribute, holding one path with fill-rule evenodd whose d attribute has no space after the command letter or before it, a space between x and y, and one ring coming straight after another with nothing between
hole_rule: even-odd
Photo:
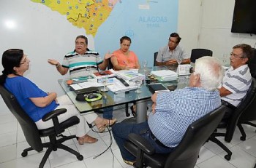
<instances>
[{"instance_id":1,"label":"white-haired man in blue checked shirt, seen from behind","mask_svg":"<svg viewBox=\"0 0 256 168\"><path fill-rule=\"evenodd\" d=\"M127 164L133 164L135 156L124 148L129 133L145 137L157 153L170 153L181 142L189 124L200 119L221 105L217 87L223 78L223 68L214 57L196 60L195 72L189 79L189 87L173 92L157 92L152 95L152 112L148 121L140 124L118 123L113 126L113 137Z\"/></svg>"}]
</instances>

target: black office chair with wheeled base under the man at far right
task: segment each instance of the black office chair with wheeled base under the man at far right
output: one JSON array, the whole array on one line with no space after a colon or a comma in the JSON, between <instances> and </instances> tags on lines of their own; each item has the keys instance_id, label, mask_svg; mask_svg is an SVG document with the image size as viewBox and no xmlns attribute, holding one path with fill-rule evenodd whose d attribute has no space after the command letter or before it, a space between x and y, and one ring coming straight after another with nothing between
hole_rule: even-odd
<instances>
[{"instance_id":1,"label":"black office chair with wheeled base under the man at far right","mask_svg":"<svg viewBox=\"0 0 256 168\"><path fill-rule=\"evenodd\" d=\"M235 111L233 111L232 115L230 116L230 119L228 120L222 120L218 127L217 131L214 132L209 140L211 140L214 143L217 143L224 151L227 152L227 155L225 155L226 160L231 159L232 152L222 143L220 142L216 137L225 137L225 141L227 143L230 143L230 141L233 138L236 126L238 125L238 120L240 119L240 116L244 111L247 111L247 109L251 109L255 106L254 100L255 100L255 92L256 92L256 79L252 78L252 84L249 87L249 90L246 93L246 96L241 101L241 103L238 105L238 108L236 108ZM238 126L241 134L243 135L243 132L241 131L241 128ZM218 132L218 129L226 129L226 132Z\"/></svg>"}]
</instances>

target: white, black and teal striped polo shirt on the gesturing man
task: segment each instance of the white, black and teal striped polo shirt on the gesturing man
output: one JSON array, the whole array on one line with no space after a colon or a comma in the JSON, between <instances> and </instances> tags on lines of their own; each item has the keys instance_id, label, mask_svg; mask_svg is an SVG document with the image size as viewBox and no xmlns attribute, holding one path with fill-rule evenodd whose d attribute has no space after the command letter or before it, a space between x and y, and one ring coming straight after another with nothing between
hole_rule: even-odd
<instances>
[{"instance_id":1,"label":"white, black and teal striped polo shirt on the gesturing man","mask_svg":"<svg viewBox=\"0 0 256 168\"><path fill-rule=\"evenodd\" d=\"M91 72L97 72L97 66L101 64L103 60L99 56L98 52L87 49L83 55L77 52L69 52L64 56L62 66L69 68L70 77L86 76L86 67L91 68Z\"/></svg>"}]
</instances>

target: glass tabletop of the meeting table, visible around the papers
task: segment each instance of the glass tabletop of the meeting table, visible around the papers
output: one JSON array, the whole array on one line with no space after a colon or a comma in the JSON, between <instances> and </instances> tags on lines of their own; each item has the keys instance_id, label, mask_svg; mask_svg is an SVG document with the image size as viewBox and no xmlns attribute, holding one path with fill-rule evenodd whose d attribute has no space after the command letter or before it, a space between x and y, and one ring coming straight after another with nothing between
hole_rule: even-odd
<instances>
[{"instance_id":1,"label":"glass tabletop of the meeting table, visible around the papers","mask_svg":"<svg viewBox=\"0 0 256 168\"><path fill-rule=\"evenodd\" d=\"M139 73L143 73L147 75L151 71L159 71L159 70L164 70L164 69L170 69L170 67L166 66L157 66L157 67L147 67L145 69L140 69ZM113 93L111 91L108 92L101 92L99 87L99 93L102 94L102 99L94 101L94 102L80 102L78 100L75 100L76 94L73 91L72 87L70 87L67 84L67 81L69 79L59 79L58 82L61 85L62 89L64 89L64 92L69 96L70 100L72 100L72 103L78 108L78 111L80 113L86 113L89 111L94 111L97 109L102 109L106 107L111 107L115 105L122 105L126 103L134 103L139 100L150 100L152 93L148 89L148 84L144 82L141 87L141 93L136 93L135 89L130 90L129 92L121 92L121 93ZM162 81L161 83L165 87L170 87L173 86L176 89L181 89L184 87L187 87L189 81L189 76L179 76L177 80L174 81ZM84 80L81 81L76 81L76 82L84 82Z\"/></svg>"}]
</instances>

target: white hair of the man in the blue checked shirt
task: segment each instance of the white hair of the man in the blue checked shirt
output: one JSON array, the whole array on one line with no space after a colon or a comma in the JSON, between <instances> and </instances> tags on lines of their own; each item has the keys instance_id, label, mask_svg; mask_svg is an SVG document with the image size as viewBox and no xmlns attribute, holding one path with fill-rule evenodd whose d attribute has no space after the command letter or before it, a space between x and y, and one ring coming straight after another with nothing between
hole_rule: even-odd
<instances>
[{"instance_id":1,"label":"white hair of the man in the blue checked shirt","mask_svg":"<svg viewBox=\"0 0 256 168\"><path fill-rule=\"evenodd\" d=\"M201 87L215 90L222 82L224 69L216 57L200 57L195 60L195 73L200 75Z\"/></svg>"}]
</instances>

